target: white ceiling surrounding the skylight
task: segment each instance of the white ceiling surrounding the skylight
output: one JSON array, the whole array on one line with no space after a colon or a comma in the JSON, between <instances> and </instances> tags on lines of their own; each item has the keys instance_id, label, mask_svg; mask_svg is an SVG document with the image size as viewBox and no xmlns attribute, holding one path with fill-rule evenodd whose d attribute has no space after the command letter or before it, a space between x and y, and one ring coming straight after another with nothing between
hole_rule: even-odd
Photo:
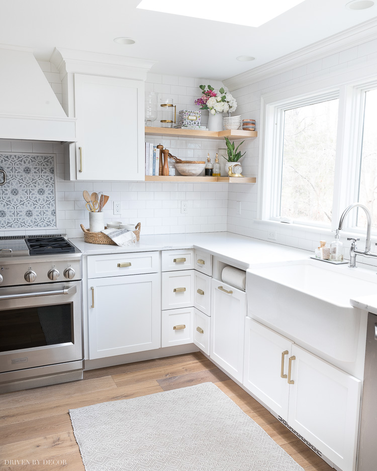
<instances>
[{"instance_id":1,"label":"white ceiling surrounding the skylight","mask_svg":"<svg viewBox=\"0 0 377 471\"><path fill-rule=\"evenodd\" d=\"M377 17L377 2L355 11L345 8L349 0L305 0L252 28L136 9L139 1L0 0L0 43L31 47L42 60L64 47L156 60L155 73L223 80ZM229 0L229 8L245 1L261 0ZM120 36L136 43L114 43ZM239 62L240 55L256 59Z\"/></svg>"}]
</instances>

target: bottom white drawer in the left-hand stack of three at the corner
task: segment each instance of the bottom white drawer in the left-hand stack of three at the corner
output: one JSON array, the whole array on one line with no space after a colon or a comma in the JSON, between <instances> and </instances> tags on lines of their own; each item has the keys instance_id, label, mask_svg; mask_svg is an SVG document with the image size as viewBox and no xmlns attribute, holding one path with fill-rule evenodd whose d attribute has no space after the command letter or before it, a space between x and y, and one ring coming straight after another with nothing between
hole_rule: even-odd
<instances>
[{"instance_id":1,"label":"bottom white drawer in the left-hand stack of three at the corner","mask_svg":"<svg viewBox=\"0 0 377 471\"><path fill-rule=\"evenodd\" d=\"M162 311L161 346L193 342L194 308Z\"/></svg>"}]
</instances>

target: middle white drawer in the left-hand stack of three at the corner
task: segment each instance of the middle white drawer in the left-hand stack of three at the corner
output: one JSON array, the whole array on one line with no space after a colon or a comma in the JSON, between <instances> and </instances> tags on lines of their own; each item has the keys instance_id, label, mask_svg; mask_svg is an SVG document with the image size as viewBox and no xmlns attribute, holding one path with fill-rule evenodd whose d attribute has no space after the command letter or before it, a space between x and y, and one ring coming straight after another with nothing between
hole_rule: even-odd
<instances>
[{"instance_id":1,"label":"middle white drawer in the left-hand stack of three at the corner","mask_svg":"<svg viewBox=\"0 0 377 471\"><path fill-rule=\"evenodd\" d=\"M194 270L161 273L162 309L194 305Z\"/></svg>"}]
</instances>

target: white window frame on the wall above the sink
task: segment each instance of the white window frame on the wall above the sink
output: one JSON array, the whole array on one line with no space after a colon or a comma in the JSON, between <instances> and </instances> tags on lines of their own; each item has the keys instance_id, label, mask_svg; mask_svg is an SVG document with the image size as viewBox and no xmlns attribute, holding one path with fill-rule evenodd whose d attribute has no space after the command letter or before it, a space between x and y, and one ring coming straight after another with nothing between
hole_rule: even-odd
<instances>
[{"instance_id":1,"label":"white window frame on the wall above the sink","mask_svg":"<svg viewBox=\"0 0 377 471\"><path fill-rule=\"evenodd\" d=\"M327 86L302 85L261 96L262 134L259 147L257 208L257 220L260 222L281 224L276 214L281 194L284 111L320 101L339 98L332 221L331 224L326 224L295 220L290 226L322 232L334 230L343 210L357 201L365 92L377 88L377 75L374 69L369 77L362 80L351 76L349 80L344 79L343 83L339 83L341 81L337 77L324 82ZM354 210L347 216L343 229L350 234L363 235L365 228L357 227L356 221L357 211ZM372 233L377 231L374 229Z\"/></svg>"}]
</instances>

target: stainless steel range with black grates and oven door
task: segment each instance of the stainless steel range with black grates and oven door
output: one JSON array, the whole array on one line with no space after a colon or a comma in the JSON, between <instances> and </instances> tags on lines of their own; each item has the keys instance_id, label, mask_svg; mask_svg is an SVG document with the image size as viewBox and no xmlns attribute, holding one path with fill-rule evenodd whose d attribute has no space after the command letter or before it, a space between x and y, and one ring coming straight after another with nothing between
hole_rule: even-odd
<instances>
[{"instance_id":1,"label":"stainless steel range with black grates and oven door","mask_svg":"<svg viewBox=\"0 0 377 471\"><path fill-rule=\"evenodd\" d=\"M0 237L0 393L82 379L81 273L61 234Z\"/></svg>"}]
</instances>

